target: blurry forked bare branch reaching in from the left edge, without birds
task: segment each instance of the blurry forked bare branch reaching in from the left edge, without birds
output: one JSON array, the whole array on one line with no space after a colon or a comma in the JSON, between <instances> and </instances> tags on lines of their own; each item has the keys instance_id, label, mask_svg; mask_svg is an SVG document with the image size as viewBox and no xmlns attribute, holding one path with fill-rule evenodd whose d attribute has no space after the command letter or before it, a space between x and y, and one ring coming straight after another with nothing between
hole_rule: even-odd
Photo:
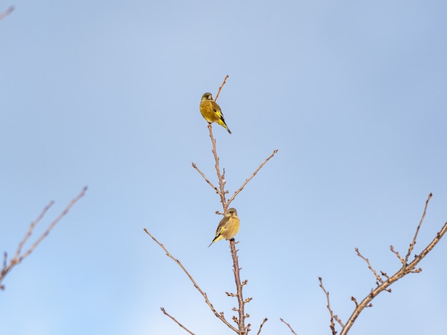
<instances>
[{"instance_id":1,"label":"blurry forked bare branch reaching in from the left edge, without birds","mask_svg":"<svg viewBox=\"0 0 447 335\"><path fill-rule=\"evenodd\" d=\"M31 225L29 225L28 231L26 232L24 239L22 239L21 242L19 243L19 247L17 247L16 254L14 254L14 257L9 262L9 265L7 264L8 255L6 252L4 253L4 262L0 273L0 289L4 289L4 286L1 285L1 282L3 281L4 277L6 277L6 274L8 274L13 267L15 267L17 264L21 263L21 261L23 261L26 257L28 257L29 254L31 254L31 252L34 252L34 249L36 249L39 243L42 242L44 238L48 236L51 230L53 230L54 226L62 219L62 217L64 217L69 212L71 207L73 207L73 205L76 204L76 202L78 202L78 200L81 199L81 197L84 197L86 190L87 187L84 187L81 193L79 193L79 195L77 195L73 200L71 200L69 205L65 207L65 209L61 212L61 214L59 214L59 216L56 217L56 219L54 219L53 222L51 222L49 227L45 230L43 234L41 234L41 236L36 240L36 242L34 242L34 244L32 244L31 247L29 247L29 249L22 254L21 250L23 249L24 244L29 239L29 237L31 237L34 227L36 227L36 225L43 219L43 217L46 215L46 212L48 212L50 207L54 204L54 201L51 201L49 205L47 205L44 208L44 210L42 210L39 217L37 217L37 219L34 220L34 222L31 222Z\"/></svg>"}]
</instances>

